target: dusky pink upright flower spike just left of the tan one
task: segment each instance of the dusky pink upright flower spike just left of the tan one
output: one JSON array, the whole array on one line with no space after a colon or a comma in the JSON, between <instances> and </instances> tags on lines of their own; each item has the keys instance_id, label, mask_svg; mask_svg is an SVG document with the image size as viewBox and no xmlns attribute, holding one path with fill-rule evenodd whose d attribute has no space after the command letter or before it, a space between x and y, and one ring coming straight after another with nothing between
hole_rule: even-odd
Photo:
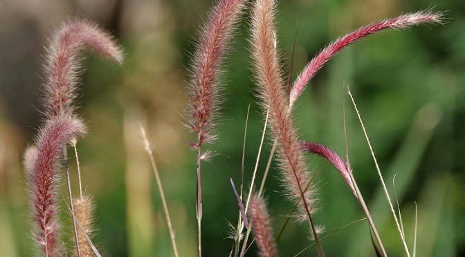
<instances>
[{"instance_id":1,"label":"dusky pink upright flower spike just left of the tan one","mask_svg":"<svg viewBox=\"0 0 465 257\"><path fill-rule=\"evenodd\" d=\"M198 135L197 142L191 144L194 148L215 139L212 128L221 102L221 66L243 10L244 0L220 0L200 30L191 67L191 100L187 111L188 127Z\"/></svg>"}]
</instances>

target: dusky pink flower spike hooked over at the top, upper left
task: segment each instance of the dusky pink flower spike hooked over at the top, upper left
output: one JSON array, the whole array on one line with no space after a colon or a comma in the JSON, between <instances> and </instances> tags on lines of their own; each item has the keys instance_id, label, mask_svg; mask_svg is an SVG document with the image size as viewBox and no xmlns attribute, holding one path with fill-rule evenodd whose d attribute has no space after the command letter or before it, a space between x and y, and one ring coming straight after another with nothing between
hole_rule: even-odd
<instances>
[{"instance_id":1,"label":"dusky pink flower spike hooked over at the top, upper left","mask_svg":"<svg viewBox=\"0 0 465 257\"><path fill-rule=\"evenodd\" d=\"M57 30L46 53L46 115L72 115L80 74L80 52L89 48L118 64L122 50L111 35L89 21L72 19Z\"/></svg>"}]
</instances>

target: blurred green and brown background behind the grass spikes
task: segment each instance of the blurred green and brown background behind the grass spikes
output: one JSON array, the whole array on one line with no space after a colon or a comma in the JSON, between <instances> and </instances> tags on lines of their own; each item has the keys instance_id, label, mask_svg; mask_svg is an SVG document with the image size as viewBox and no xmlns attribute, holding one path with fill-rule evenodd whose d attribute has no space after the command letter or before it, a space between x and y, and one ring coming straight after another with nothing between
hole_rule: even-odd
<instances>
[{"instance_id":1,"label":"blurred green and brown background behind the grass spikes","mask_svg":"<svg viewBox=\"0 0 465 257\"><path fill-rule=\"evenodd\" d=\"M42 120L42 55L53 28L67 17L89 17L116 35L125 48L122 67L86 55L79 113L89 135L78 142L82 180L96 203L94 242L104 256L172 256L154 176L138 124L154 146L181 256L195 256L195 160L183 128L185 85L197 29L212 1L188 0L3 0L0 3L0 249L1 256L31 256L28 191L21 156ZM372 21L405 12L446 12L445 26L385 31L336 56L313 79L295 109L304 140L345 155L346 102L349 156L355 178L390 256L403 256L388 202L354 108L349 84L374 146L388 188L401 204L412 247L418 204L417 256L465 255L465 1L294 0L279 5L277 36L289 67L294 35L295 75L318 50ZM225 99L217 134L208 146L217 155L203 164L204 256L226 256L233 245L228 221L237 222L229 178L240 181L242 140L250 104L246 187L255 165L263 118L253 94L248 55L248 15L241 21L225 66ZM288 69L288 68L286 68ZM259 162L262 178L271 142ZM71 153L70 149L70 156ZM75 161L73 192L78 193ZM317 176L320 210L314 220L334 231L363 212L338 173L309 157ZM275 169L266 195L277 232L293 205L282 197ZM64 191L63 191L64 192ZM394 196L394 195L392 195ZM59 193L59 198L66 198ZM62 201L62 209L66 209ZM64 212L64 211L62 211ZM62 214L64 237L70 218ZM311 242L308 225L290 224L278 245L293 256ZM68 242L68 240L66 240ZM69 243L69 242L68 242ZM367 222L342 229L322 242L327 256L374 256ZM255 256L255 246L248 256ZM316 256L309 249L303 256Z\"/></svg>"}]
</instances>

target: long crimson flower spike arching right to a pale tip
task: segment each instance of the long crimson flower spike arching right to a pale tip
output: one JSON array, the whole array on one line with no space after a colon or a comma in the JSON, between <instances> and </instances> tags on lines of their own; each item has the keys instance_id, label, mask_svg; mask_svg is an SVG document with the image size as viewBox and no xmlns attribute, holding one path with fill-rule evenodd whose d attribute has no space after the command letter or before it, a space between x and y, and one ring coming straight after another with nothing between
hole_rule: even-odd
<instances>
[{"instance_id":1,"label":"long crimson flower spike arching right to a pale tip","mask_svg":"<svg viewBox=\"0 0 465 257\"><path fill-rule=\"evenodd\" d=\"M410 26L419 25L421 23L441 24L443 23L443 14L441 12L432 12L431 10L426 10L422 12L414 12L406 15L401 15L393 19L385 19L384 21L372 23L368 26L355 30L354 32L351 32L345 35L344 37L336 39L336 41L334 41L333 43L325 47L323 50L321 50L321 52L318 55L316 55L316 57L313 57L313 59L309 61L309 64L307 64L307 66L304 67L302 73L300 73L300 75L294 82L291 91L289 106L292 108L292 106L295 104L295 101L297 101L298 97L304 91L305 87L307 86L307 83L309 83L310 79L312 79L313 76L315 76L316 73L318 73L318 70L325 66L329 59L334 57L334 55L339 53L340 50L343 50L343 48L345 48L349 44L352 44L355 41L358 41L368 35L380 32L381 30L386 30L389 28L408 28Z\"/></svg>"}]
</instances>

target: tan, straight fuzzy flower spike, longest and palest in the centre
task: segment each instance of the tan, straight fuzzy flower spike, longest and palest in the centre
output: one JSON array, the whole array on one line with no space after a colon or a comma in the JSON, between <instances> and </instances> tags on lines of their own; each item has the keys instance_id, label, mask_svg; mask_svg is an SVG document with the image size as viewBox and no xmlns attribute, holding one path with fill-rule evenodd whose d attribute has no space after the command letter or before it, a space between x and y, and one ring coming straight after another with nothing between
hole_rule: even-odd
<instances>
[{"instance_id":1,"label":"tan, straight fuzzy flower spike, longest and palest in the centre","mask_svg":"<svg viewBox=\"0 0 465 257\"><path fill-rule=\"evenodd\" d=\"M293 119L289 115L285 82L278 61L275 8L273 0L257 0L253 6L250 44L257 95L264 113L269 110L269 126L277 142L277 159L284 190L293 202L298 203L298 219L309 221L319 255L324 256L317 229L311 219L311 213L316 210L315 190L310 184L309 171L305 166Z\"/></svg>"}]
</instances>

